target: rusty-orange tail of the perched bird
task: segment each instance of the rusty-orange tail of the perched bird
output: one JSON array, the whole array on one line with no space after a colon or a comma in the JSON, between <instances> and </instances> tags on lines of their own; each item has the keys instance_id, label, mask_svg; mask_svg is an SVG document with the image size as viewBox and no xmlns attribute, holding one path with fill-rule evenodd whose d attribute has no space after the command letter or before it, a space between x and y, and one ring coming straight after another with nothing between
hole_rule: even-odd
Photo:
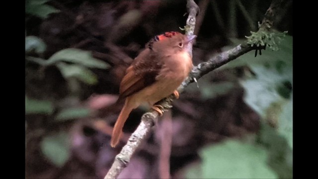
<instances>
[{"instance_id":1,"label":"rusty-orange tail of the perched bird","mask_svg":"<svg viewBox=\"0 0 318 179\"><path fill-rule=\"evenodd\" d=\"M129 106L128 99L126 98L125 105L120 111L120 114L113 129L113 134L111 135L110 145L112 147L116 147L116 145L118 144L124 124L132 110L133 108Z\"/></svg>"}]
</instances>

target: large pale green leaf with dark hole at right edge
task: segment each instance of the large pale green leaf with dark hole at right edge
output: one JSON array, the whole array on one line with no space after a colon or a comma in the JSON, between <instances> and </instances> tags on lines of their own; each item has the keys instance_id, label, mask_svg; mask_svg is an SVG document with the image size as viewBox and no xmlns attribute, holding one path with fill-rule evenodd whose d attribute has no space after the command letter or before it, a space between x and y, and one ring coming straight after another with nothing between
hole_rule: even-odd
<instances>
[{"instance_id":1,"label":"large pale green leaf with dark hole at right edge","mask_svg":"<svg viewBox=\"0 0 318 179\"><path fill-rule=\"evenodd\" d=\"M293 145L293 66L292 38L286 38L277 52L264 52L252 59L248 66L255 78L240 81L245 89L245 102L261 117L277 126L280 134L286 137L289 146ZM239 61L239 60L238 60Z\"/></svg>"}]
</instances>

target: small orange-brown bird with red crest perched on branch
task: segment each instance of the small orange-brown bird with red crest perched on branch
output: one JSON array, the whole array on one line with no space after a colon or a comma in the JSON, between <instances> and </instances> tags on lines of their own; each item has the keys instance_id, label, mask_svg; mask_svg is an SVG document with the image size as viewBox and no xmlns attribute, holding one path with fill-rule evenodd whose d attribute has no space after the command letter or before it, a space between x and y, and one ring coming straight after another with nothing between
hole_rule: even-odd
<instances>
[{"instance_id":1,"label":"small orange-brown bird with red crest perched on branch","mask_svg":"<svg viewBox=\"0 0 318 179\"><path fill-rule=\"evenodd\" d=\"M176 89L193 67L188 47L192 47L190 42L195 38L196 35L175 31L156 35L133 60L120 83L117 101L125 99L125 103L113 128L111 147L118 144L122 128L133 109L148 103L161 116L162 106L156 102L171 94L179 97Z\"/></svg>"}]
</instances>

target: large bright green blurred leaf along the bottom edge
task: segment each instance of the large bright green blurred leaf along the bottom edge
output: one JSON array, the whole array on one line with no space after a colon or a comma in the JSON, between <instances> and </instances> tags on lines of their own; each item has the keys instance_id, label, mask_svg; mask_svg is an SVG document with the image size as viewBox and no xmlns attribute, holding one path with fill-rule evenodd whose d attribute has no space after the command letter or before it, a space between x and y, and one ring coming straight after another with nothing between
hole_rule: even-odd
<instances>
[{"instance_id":1,"label":"large bright green blurred leaf along the bottom edge","mask_svg":"<svg viewBox=\"0 0 318 179\"><path fill-rule=\"evenodd\" d=\"M203 179L277 178L266 164L266 151L251 144L228 140L203 148L200 156L202 158L201 168L189 170L188 178L193 176L191 173L196 173L199 175L196 178Z\"/></svg>"}]
</instances>

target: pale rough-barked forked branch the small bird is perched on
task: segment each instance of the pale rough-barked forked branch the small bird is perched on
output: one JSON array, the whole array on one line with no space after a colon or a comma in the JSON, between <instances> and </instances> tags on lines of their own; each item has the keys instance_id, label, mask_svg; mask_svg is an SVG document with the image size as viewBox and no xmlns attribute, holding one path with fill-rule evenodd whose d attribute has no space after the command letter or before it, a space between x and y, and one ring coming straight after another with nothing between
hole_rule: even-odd
<instances>
[{"instance_id":1,"label":"pale rough-barked forked branch the small bird is perched on","mask_svg":"<svg viewBox=\"0 0 318 179\"><path fill-rule=\"evenodd\" d=\"M273 0L270 7L267 9L262 24L260 25L260 30L268 30L273 25L275 20L275 16L282 11L282 9L286 8L284 4L286 1L290 0ZM186 22L186 34L192 35L194 33L195 27L195 17L199 12L198 5L193 0L187 0L187 9L189 12L189 16ZM190 45L192 51L192 44ZM209 59L207 62L200 63L198 66L192 69L189 77L181 84L178 88L178 92L181 93L185 87L187 87L190 83L194 82L194 79L199 79L203 75L215 70L218 67L238 58L239 56L255 49L255 47L251 47L250 44L247 44L245 41L242 44L239 44L237 47L230 49L226 52L221 53L220 55ZM191 53L192 54L192 53ZM174 99L174 95L170 95L169 97L162 99L158 104L164 107L165 110L171 108L172 100ZM138 146L146 139L147 134L151 131L151 128L157 123L158 120L158 112L151 111L147 112L142 116L141 123L132 133L130 138L128 139L127 144L123 147L121 152L115 157L115 161L111 168L109 169L107 175L104 179L116 179L121 171L129 164L129 161L132 155L137 150Z\"/></svg>"}]
</instances>

